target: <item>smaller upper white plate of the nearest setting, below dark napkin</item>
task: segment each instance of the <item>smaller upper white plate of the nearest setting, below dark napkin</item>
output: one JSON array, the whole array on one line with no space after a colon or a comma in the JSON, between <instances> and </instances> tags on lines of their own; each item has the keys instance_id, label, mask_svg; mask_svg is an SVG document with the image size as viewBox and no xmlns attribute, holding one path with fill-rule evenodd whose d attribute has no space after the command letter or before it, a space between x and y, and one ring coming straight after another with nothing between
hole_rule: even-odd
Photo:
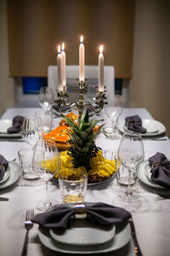
<instances>
[{"instance_id":1,"label":"smaller upper white plate of the nearest setting, below dark napkin","mask_svg":"<svg viewBox=\"0 0 170 256\"><path fill-rule=\"evenodd\" d=\"M71 228L64 232L49 230L55 241L75 246L91 246L110 241L115 236L116 227L99 227L87 219L76 219Z\"/></svg>"}]
</instances>

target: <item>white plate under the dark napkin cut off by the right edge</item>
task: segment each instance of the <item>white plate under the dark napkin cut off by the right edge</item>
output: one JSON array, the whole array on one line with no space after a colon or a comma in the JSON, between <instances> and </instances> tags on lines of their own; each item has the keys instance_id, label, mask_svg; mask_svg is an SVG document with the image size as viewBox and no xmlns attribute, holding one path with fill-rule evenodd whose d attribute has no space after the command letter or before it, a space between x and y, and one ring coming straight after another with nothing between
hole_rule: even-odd
<instances>
[{"instance_id":1,"label":"white plate under the dark napkin cut off by the right edge","mask_svg":"<svg viewBox=\"0 0 170 256\"><path fill-rule=\"evenodd\" d=\"M150 164L148 160L144 160L144 162L139 166L139 180L141 180L144 184L156 188L156 189L165 189L161 185L154 183L150 179ZM146 175L147 173L147 175Z\"/></svg>"}]
</instances>

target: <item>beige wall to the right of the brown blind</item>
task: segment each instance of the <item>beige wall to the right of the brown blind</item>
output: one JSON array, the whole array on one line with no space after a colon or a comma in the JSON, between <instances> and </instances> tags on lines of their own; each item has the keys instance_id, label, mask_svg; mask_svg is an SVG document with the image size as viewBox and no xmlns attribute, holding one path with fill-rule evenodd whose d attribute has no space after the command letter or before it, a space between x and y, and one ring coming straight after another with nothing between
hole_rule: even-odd
<instances>
[{"instance_id":1,"label":"beige wall to the right of the brown blind","mask_svg":"<svg viewBox=\"0 0 170 256\"><path fill-rule=\"evenodd\" d=\"M147 108L170 136L170 1L136 3L130 107Z\"/></svg>"}]
</instances>

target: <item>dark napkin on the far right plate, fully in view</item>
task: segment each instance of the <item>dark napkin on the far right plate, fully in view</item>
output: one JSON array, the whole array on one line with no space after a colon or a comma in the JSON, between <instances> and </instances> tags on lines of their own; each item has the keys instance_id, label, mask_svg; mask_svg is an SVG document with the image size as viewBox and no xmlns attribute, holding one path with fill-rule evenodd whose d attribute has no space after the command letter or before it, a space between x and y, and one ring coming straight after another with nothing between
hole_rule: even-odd
<instances>
[{"instance_id":1,"label":"dark napkin on the far right plate, fully in view","mask_svg":"<svg viewBox=\"0 0 170 256\"><path fill-rule=\"evenodd\" d=\"M140 119L139 115L127 116L125 118L125 123L129 131L138 133L146 132L146 129L142 126L142 119Z\"/></svg>"}]
</instances>

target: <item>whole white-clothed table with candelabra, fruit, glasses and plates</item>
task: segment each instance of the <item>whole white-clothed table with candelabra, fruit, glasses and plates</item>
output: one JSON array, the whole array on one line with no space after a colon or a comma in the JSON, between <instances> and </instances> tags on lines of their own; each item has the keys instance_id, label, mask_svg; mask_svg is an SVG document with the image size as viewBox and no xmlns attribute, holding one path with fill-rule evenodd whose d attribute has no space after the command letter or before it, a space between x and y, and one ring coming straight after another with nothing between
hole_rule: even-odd
<instances>
[{"instance_id":1,"label":"whole white-clothed table with candelabra, fruit, glasses and plates","mask_svg":"<svg viewBox=\"0 0 170 256\"><path fill-rule=\"evenodd\" d=\"M80 41L77 101L66 99L59 46L57 99L42 88L41 108L8 108L0 119L1 253L167 256L166 127L145 108L122 108L119 96L110 106L103 45L99 86L89 101Z\"/></svg>"}]
</instances>

